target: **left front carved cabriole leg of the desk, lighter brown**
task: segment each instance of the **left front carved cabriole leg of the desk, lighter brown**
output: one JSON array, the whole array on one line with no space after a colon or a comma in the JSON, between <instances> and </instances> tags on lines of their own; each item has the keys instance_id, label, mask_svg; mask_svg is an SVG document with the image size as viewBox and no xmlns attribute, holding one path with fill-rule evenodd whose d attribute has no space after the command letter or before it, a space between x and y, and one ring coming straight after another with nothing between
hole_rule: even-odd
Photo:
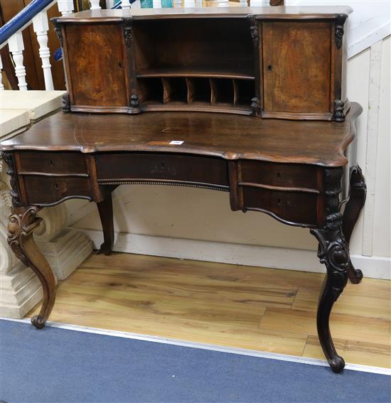
<instances>
[{"instance_id":1,"label":"left front carved cabriole leg of the desk, lighter brown","mask_svg":"<svg viewBox=\"0 0 391 403\"><path fill-rule=\"evenodd\" d=\"M52 311L55 301L55 278L48 262L36 246L33 230L38 227L41 218L36 217L38 208L14 208L9 218L8 242L18 259L31 267L41 281L43 301L41 311L31 319L36 328L41 329Z\"/></svg>"}]
</instances>

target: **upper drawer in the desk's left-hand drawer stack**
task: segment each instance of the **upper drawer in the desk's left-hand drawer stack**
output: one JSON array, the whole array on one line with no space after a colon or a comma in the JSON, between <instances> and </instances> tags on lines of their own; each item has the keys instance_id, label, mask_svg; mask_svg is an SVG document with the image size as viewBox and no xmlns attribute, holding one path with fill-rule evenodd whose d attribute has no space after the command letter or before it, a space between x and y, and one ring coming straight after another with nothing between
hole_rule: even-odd
<instances>
[{"instance_id":1,"label":"upper drawer in the desk's left-hand drawer stack","mask_svg":"<svg viewBox=\"0 0 391 403\"><path fill-rule=\"evenodd\" d=\"M87 173L81 153L55 151L21 151L19 173Z\"/></svg>"}]
</instances>

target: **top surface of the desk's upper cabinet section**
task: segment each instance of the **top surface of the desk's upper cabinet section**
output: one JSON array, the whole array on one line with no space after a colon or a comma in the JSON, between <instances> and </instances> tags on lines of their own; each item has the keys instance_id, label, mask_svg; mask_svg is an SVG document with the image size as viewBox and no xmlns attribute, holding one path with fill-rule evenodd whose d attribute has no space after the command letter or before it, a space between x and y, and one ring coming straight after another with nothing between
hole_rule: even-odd
<instances>
[{"instance_id":1,"label":"top surface of the desk's upper cabinet section","mask_svg":"<svg viewBox=\"0 0 391 403\"><path fill-rule=\"evenodd\" d=\"M194 9L127 9L127 10L89 10L56 18L59 22L99 22L120 21L122 18L159 19L159 18L245 18L255 16L259 19L316 19L336 18L336 14L350 14L347 6L267 6L267 7L203 7Z\"/></svg>"}]
</instances>

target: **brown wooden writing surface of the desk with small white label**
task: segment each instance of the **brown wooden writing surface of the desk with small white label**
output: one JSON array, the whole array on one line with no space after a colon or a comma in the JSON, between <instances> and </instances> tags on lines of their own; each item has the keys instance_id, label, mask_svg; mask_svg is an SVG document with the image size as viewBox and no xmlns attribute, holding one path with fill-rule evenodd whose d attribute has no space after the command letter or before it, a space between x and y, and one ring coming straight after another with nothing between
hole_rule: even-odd
<instances>
[{"instance_id":1,"label":"brown wooden writing surface of the desk with small white label","mask_svg":"<svg viewBox=\"0 0 391 403\"><path fill-rule=\"evenodd\" d=\"M320 166L343 166L362 108L346 121L297 122L201 112L78 114L58 112L3 141L3 151L172 152ZM172 144L172 141L181 144Z\"/></svg>"}]
</instances>

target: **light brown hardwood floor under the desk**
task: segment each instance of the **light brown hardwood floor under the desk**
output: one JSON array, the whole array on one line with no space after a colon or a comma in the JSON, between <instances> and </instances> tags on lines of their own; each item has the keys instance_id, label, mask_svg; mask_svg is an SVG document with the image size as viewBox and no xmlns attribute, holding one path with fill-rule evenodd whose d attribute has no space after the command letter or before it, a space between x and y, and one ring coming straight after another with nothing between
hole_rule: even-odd
<instances>
[{"instance_id":1,"label":"light brown hardwood floor under the desk","mask_svg":"<svg viewBox=\"0 0 391 403\"><path fill-rule=\"evenodd\" d=\"M59 284L50 320L323 359L315 321L323 276L93 254ZM346 362L391 367L390 301L391 281L348 284L331 315Z\"/></svg>"}]
</instances>

